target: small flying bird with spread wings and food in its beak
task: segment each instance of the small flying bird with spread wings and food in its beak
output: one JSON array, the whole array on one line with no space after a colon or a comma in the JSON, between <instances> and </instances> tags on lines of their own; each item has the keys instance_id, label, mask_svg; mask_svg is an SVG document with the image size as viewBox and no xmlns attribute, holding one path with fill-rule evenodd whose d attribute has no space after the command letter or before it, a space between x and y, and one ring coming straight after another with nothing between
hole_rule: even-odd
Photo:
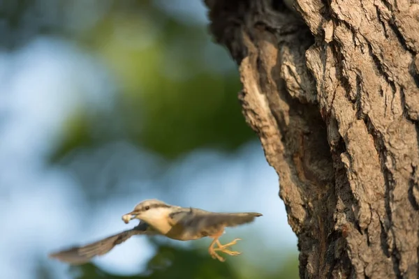
<instances>
[{"instance_id":1,"label":"small flying bird with spread wings and food in its beak","mask_svg":"<svg viewBox=\"0 0 419 279\"><path fill-rule=\"evenodd\" d=\"M135 235L163 235L178 241L191 241L209 237L212 239L208 252L213 259L225 262L217 252L237 256L241 252L229 250L241 239L221 244L219 238L226 227L236 227L251 223L261 213L216 213L193 207L182 207L166 204L159 199L146 199L137 204L133 211L124 214L122 220L128 224L138 219L140 223L124 232L119 232L105 239L84 246L73 246L58 252L50 253L49 257L68 264L78 265L90 262L96 256L105 255L115 246ZM215 247L216 246L216 247Z\"/></svg>"}]
</instances>

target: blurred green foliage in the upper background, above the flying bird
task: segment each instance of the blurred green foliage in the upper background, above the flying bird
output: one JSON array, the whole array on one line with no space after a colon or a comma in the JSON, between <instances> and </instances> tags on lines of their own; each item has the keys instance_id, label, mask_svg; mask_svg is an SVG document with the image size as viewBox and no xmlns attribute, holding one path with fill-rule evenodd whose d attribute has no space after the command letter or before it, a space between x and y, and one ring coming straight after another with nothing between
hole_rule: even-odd
<instances>
[{"instance_id":1,"label":"blurred green foliage in the upper background, above the flying bird","mask_svg":"<svg viewBox=\"0 0 419 279\"><path fill-rule=\"evenodd\" d=\"M233 61L211 45L205 25L179 22L150 1L132 3L115 5L78 37L118 84L119 125L128 140L175 159L197 148L234 151L256 139L240 112ZM78 129L53 158L94 143L95 125L71 128Z\"/></svg>"}]
</instances>

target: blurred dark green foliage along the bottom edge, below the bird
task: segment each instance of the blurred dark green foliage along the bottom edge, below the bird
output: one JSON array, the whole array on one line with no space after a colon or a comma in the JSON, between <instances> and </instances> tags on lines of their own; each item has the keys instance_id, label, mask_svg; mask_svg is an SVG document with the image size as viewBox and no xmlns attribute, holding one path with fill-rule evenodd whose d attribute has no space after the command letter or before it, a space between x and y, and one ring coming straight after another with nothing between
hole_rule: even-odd
<instances>
[{"instance_id":1,"label":"blurred dark green foliage along the bottom edge, below the bird","mask_svg":"<svg viewBox=\"0 0 419 279\"><path fill-rule=\"evenodd\" d=\"M212 259L198 248L180 248L158 244L156 255L147 263L145 271L135 276L116 276L101 270L94 264L71 268L75 279L297 279L297 258L293 257L277 271L256 271L252 277L243 276L240 271L226 262ZM229 257L229 256L227 256Z\"/></svg>"}]
</instances>

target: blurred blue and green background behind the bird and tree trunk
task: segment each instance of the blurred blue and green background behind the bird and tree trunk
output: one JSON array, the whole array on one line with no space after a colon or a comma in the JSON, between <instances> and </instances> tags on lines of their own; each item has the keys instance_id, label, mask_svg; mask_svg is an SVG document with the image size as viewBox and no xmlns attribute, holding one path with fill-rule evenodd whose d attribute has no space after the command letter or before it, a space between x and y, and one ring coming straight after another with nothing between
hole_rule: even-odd
<instances>
[{"instance_id":1,"label":"blurred blue and green background behind the bird and tree trunk","mask_svg":"<svg viewBox=\"0 0 419 279\"><path fill-rule=\"evenodd\" d=\"M200 0L0 0L0 277L297 278L278 178ZM91 264L51 251L132 227L142 199L257 211L210 239L137 236Z\"/></svg>"}]
</instances>

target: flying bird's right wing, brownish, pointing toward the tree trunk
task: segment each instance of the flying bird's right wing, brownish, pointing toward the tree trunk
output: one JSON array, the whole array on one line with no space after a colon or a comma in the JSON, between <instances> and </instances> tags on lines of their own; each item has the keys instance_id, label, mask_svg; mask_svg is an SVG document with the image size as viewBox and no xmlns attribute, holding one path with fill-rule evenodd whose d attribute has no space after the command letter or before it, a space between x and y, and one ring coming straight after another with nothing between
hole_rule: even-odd
<instances>
[{"instance_id":1,"label":"flying bird's right wing, brownish, pointing toward the tree trunk","mask_svg":"<svg viewBox=\"0 0 419 279\"><path fill-rule=\"evenodd\" d=\"M189 236L212 236L224 227L235 227L251 223L260 213L214 213L202 209L184 209L170 216L173 223L183 227Z\"/></svg>"}]
</instances>

